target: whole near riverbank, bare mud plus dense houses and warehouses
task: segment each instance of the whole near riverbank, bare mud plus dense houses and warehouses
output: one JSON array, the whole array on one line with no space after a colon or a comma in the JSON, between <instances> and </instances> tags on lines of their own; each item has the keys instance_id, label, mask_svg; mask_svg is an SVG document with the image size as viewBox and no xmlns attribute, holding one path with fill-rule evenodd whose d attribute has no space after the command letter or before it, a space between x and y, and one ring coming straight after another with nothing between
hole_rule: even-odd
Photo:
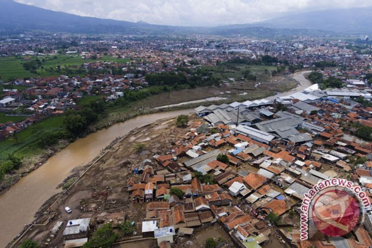
<instances>
[{"instance_id":1,"label":"whole near riverbank, bare mud plus dense houses and warehouses","mask_svg":"<svg viewBox=\"0 0 372 248\"><path fill-rule=\"evenodd\" d=\"M65 181L20 241L96 247L107 235L114 247L368 248L371 206L342 239L301 241L299 229L304 195L321 181L350 180L371 200L372 111L363 105L371 88L353 82L199 106L135 129Z\"/></svg>"}]
</instances>

